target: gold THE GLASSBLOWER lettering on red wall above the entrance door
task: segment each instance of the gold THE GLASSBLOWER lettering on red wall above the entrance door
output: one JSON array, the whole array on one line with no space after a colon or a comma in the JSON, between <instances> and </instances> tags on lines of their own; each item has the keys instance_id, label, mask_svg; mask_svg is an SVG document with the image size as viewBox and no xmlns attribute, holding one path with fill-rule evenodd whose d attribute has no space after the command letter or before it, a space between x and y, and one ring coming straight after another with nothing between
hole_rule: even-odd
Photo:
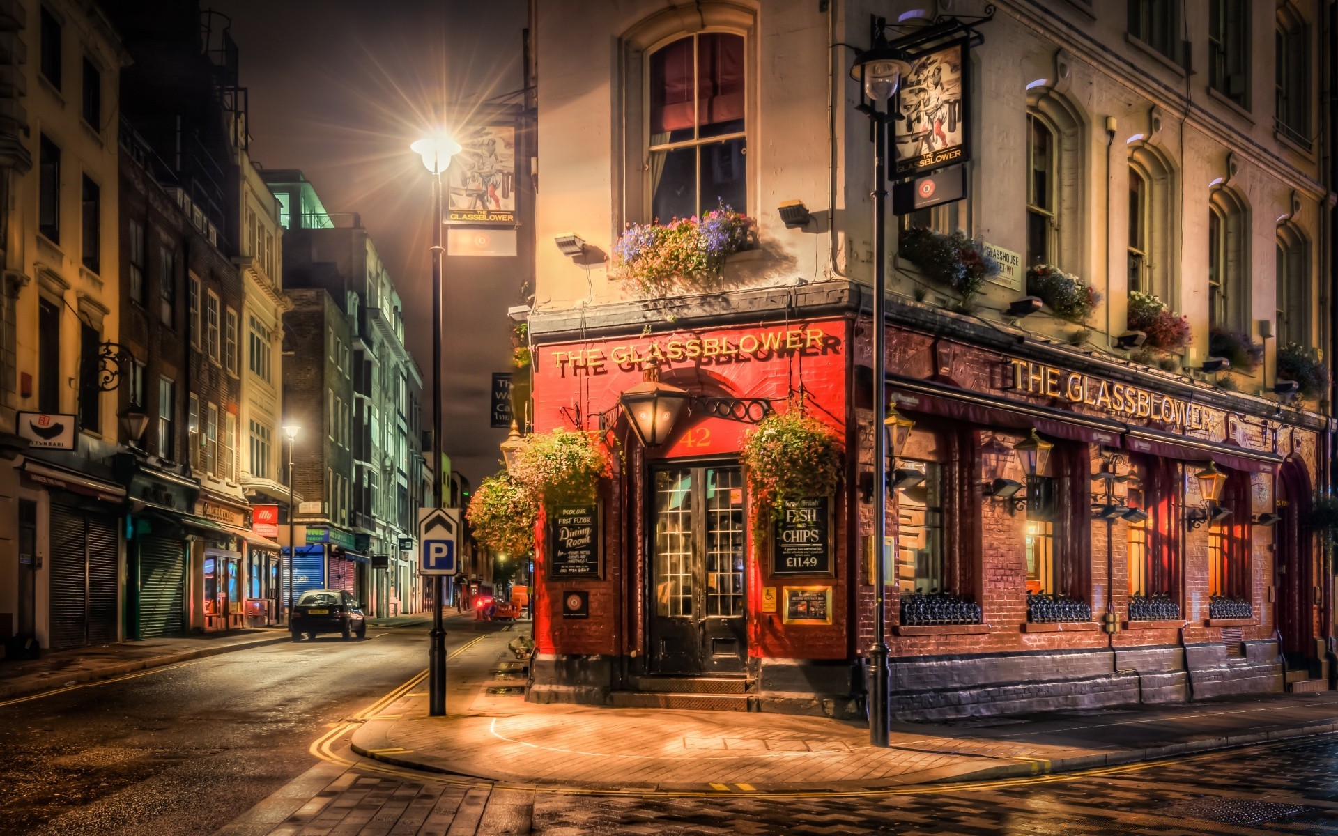
<instances>
[{"instance_id":1,"label":"gold THE GLASSBLOWER lettering on red wall above the entrance door","mask_svg":"<svg viewBox=\"0 0 1338 836\"><path fill-rule=\"evenodd\" d=\"M609 371L609 365L630 371L641 368L648 360L660 364L685 361L719 365L769 360L789 353L820 354L839 346L840 337L822 328L765 328L723 337L673 337L549 353L559 372L582 371L603 375Z\"/></svg>"}]
</instances>

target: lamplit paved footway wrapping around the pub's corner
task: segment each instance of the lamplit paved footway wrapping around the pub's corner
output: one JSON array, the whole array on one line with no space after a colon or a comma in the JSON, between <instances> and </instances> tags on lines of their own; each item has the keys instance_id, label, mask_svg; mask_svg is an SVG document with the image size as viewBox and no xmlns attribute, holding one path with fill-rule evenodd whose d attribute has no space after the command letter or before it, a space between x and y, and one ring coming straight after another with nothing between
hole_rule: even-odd
<instances>
[{"instance_id":1,"label":"lamplit paved footway wrapping around the pub's corner","mask_svg":"<svg viewBox=\"0 0 1338 836\"><path fill-rule=\"evenodd\" d=\"M523 631L523 626L518 626ZM867 728L771 713L534 705L506 649L514 631L454 657L448 717L408 690L353 732L364 757L511 788L619 793L871 792L1037 776L1338 732L1338 693L1120 706Z\"/></svg>"}]
</instances>

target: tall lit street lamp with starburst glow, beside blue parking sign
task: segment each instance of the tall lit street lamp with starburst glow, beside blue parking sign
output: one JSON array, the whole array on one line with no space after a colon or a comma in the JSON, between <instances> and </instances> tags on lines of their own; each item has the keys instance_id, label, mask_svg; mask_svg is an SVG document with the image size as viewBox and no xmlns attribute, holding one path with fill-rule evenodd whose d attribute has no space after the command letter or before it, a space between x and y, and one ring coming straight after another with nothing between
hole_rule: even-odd
<instances>
[{"instance_id":1,"label":"tall lit street lamp with starburst glow, beside blue parking sign","mask_svg":"<svg viewBox=\"0 0 1338 836\"><path fill-rule=\"evenodd\" d=\"M451 158L460 152L460 143L446 132L435 132L409 146L423 158L423 165L432 174L432 472L436 474L435 502L443 508L442 474L442 262L446 247L442 245L442 173L451 165ZM442 623L442 598L446 595L444 575L432 575L432 630L428 633L428 714L446 716L446 626Z\"/></svg>"}]
</instances>

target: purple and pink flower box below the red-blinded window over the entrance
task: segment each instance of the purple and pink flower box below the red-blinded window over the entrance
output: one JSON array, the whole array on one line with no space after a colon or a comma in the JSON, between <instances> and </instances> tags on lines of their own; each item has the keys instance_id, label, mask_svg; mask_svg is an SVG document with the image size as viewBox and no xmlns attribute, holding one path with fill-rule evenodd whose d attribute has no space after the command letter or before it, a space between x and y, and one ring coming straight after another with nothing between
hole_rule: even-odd
<instances>
[{"instance_id":1,"label":"purple and pink flower box below the red-blinded window over the entrance","mask_svg":"<svg viewBox=\"0 0 1338 836\"><path fill-rule=\"evenodd\" d=\"M725 259L748 249L756 226L724 203L700 218L632 223L613 245L613 277L641 298L710 289Z\"/></svg>"}]
</instances>

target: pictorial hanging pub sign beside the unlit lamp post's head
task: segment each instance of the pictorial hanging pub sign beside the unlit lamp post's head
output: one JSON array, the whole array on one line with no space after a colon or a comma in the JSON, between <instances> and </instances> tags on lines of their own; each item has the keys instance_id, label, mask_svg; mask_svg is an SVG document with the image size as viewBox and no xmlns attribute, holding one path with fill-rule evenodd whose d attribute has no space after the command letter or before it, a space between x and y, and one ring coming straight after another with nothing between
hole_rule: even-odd
<instances>
[{"instance_id":1,"label":"pictorial hanging pub sign beside the unlit lamp post's head","mask_svg":"<svg viewBox=\"0 0 1338 836\"><path fill-rule=\"evenodd\" d=\"M970 158L967 41L955 40L911 59L892 122L898 178L919 177Z\"/></svg>"}]
</instances>

